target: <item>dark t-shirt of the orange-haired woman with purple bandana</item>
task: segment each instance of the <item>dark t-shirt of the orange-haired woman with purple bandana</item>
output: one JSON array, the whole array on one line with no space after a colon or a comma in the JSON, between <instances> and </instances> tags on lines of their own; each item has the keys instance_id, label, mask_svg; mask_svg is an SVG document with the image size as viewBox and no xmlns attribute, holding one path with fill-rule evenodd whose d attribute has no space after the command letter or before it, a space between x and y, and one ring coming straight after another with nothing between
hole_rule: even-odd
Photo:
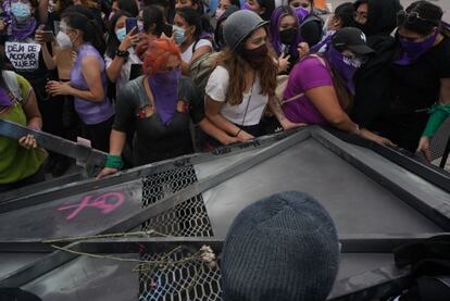
<instances>
[{"instance_id":1,"label":"dark t-shirt of the orange-haired woman with purple bandana","mask_svg":"<svg viewBox=\"0 0 450 301\"><path fill-rule=\"evenodd\" d=\"M186 102L185 112L175 112L168 125L164 125L155 112L140 117L139 111L149 104L143 76L129 81L118 93L113 128L129 133L136 129L134 140L135 165L172 159L193 151L190 121L199 123L204 117L203 101L188 77L182 76L178 99Z\"/></svg>"}]
</instances>

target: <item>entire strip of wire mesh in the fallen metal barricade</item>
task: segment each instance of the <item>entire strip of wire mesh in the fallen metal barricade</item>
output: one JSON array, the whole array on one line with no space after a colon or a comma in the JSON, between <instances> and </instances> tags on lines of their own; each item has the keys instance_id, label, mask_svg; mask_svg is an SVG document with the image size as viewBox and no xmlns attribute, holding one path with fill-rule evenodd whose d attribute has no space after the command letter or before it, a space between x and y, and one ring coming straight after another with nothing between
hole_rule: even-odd
<instances>
[{"instance_id":1,"label":"entire strip of wire mesh in the fallen metal barricade","mask_svg":"<svg viewBox=\"0 0 450 301\"><path fill-rule=\"evenodd\" d=\"M196 181L196 172L191 165L148 176L142 179L142 208L161 201ZM201 195L185 200L142 224L142 230L151 229L175 237L213 236ZM180 249L172 253L170 259L176 261L188 255L188 251ZM153 261L162 256L165 254L142 253L140 259ZM202 265L199 262L187 262L150 274L140 272L139 301L222 300L218 267L211 269Z\"/></svg>"}]
</instances>

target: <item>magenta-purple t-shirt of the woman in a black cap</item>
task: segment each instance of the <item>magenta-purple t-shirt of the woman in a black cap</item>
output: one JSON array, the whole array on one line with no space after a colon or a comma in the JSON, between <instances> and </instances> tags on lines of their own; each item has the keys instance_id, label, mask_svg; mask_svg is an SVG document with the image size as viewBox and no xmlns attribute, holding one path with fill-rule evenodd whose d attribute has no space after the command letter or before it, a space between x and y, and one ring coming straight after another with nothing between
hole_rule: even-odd
<instances>
[{"instance_id":1,"label":"magenta-purple t-shirt of the woman in a black cap","mask_svg":"<svg viewBox=\"0 0 450 301\"><path fill-rule=\"evenodd\" d=\"M292 98L322 86L333 86L332 75L318 58L308 57L290 72L284 99ZM283 104L283 111L286 117L295 123L328 124L307 96Z\"/></svg>"}]
</instances>

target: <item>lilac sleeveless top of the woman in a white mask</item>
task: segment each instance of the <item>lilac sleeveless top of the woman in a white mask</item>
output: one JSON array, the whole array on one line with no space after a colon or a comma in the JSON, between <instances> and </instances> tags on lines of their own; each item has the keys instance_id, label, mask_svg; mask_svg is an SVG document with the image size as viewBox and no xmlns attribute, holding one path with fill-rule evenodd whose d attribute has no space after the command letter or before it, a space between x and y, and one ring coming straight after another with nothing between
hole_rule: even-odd
<instances>
[{"instance_id":1,"label":"lilac sleeveless top of the woman in a white mask","mask_svg":"<svg viewBox=\"0 0 450 301\"><path fill-rule=\"evenodd\" d=\"M89 90L83 75L82 62L86 57L96 57L100 62L101 81L103 84L104 99L102 102L92 102L82 98L74 98L75 111L85 124L99 124L114 115L114 106L107 96L108 79L104 68L104 61L97 49L90 43L85 43L78 51L78 57L71 71L71 86L78 90Z\"/></svg>"}]
</instances>

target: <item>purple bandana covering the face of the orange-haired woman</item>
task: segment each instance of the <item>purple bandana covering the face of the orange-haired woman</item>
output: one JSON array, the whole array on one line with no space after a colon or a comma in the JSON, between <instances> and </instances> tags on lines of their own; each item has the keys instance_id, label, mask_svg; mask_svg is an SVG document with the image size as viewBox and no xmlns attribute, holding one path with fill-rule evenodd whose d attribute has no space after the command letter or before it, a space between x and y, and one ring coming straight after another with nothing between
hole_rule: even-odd
<instances>
[{"instance_id":1,"label":"purple bandana covering the face of the orange-haired woman","mask_svg":"<svg viewBox=\"0 0 450 301\"><path fill-rule=\"evenodd\" d=\"M180 68L149 76L149 86L154 97L154 105L161 121L165 125L172 121L176 112L180 76Z\"/></svg>"}]
</instances>

